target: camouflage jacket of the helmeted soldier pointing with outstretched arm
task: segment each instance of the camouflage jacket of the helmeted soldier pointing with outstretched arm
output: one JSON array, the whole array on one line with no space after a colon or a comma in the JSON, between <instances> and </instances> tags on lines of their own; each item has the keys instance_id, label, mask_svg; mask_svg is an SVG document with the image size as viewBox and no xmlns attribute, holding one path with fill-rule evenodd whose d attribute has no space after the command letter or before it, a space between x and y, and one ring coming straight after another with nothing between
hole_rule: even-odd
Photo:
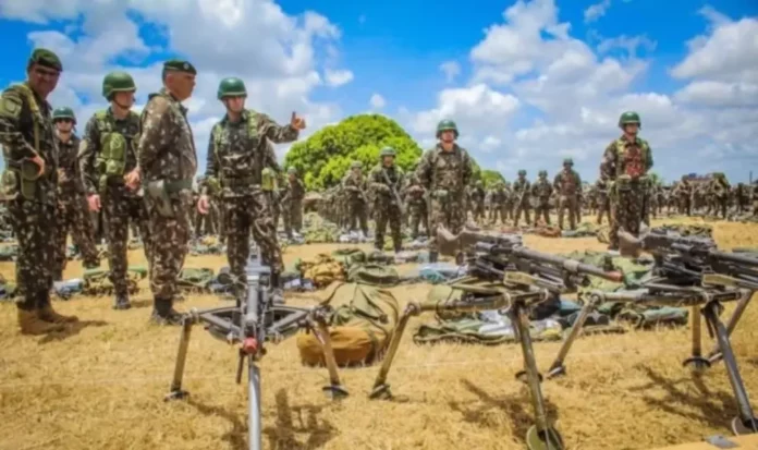
<instances>
[{"instance_id":1,"label":"camouflage jacket of the helmeted soldier pointing with outstretched arm","mask_svg":"<svg viewBox=\"0 0 758 450\"><path fill-rule=\"evenodd\" d=\"M268 142L293 142L298 135L290 124L281 126L252 109L243 111L237 122L225 115L210 132L206 177L219 181L223 197L252 195L260 188L264 168L281 172L273 145Z\"/></svg>"}]
</instances>

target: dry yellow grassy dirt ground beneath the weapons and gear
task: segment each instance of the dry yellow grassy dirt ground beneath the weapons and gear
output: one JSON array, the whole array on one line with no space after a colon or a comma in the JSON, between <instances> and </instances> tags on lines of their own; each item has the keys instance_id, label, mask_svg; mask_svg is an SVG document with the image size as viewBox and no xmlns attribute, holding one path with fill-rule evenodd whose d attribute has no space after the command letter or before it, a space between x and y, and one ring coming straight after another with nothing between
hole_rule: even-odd
<instances>
[{"instance_id":1,"label":"dry yellow grassy dirt ground beneath the weapons and gear","mask_svg":"<svg viewBox=\"0 0 758 450\"><path fill-rule=\"evenodd\" d=\"M667 222L671 222L668 220ZM758 246L758 224L711 222L725 248ZM527 236L548 252L603 250L595 239ZM339 245L289 247L286 263ZM140 264L140 251L131 253ZM220 267L220 256L192 257L188 266ZM0 272L13 278L11 263ZM81 276L78 263L66 278ZM428 287L393 289L401 302L424 299ZM171 381L179 328L148 325L147 290L127 312L110 299L57 302L83 320L66 335L22 337L15 307L0 304L0 449L246 449L246 387L234 382L236 350L195 328L187 361L186 401L163 402ZM313 304L291 295L292 304ZM224 303L192 296L179 307ZM729 311L729 308L728 308ZM420 320L430 320L421 317ZM758 405L758 311L748 307L734 348L748 392ZM726 373L718 365L700 377L682 366L688 328L584 337L567 358L568 375L542 385L567 448L650 449L729 435L736 414ZM560 343L538 343L546 370ZM706 349L710 348L707 343ZM294 339L269 345L261 363L265 448L482 449L525 448L533 424L516 345L415 345L408 333L389 381L404 402L370 401L378 366L343 369L351 396L332 402L323 369L304 368Z\"/></svg>"}]
</instances>

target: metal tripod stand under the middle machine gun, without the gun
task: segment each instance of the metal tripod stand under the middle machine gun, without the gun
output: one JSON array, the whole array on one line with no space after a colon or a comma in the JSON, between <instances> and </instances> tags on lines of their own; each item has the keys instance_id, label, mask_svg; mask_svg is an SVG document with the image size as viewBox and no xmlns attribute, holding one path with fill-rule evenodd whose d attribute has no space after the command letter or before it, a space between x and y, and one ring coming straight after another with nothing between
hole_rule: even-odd
<instances>
[{"instance_id":1,"label":"metal tripod stand under the middle machine gun, without the gun","mask_svg":"<svg viewBox=\"0 0 758 450\"><path fill-rule=\"evenodd\" d=\"M529 450L563 450L563 438L558 430L552 426L548 418L540 388L541 375L537 369L534 348L531 345L531 336L529 335L529 317L528 311L531 306L545 302L549 293L546 290L530 290L527 292L508 292L505 289L499 289L496 295L491 295L492 290L488 288L477 288L476 285L455 284L455 288L463 289L467 293L484 293L490 294L485 297L469 297L441 304L421 304L411 302L405 307L403 315L398 323L398 328L392 336L390 345L384 360L382 362L379 374L374 382L374 389L369 394L372 400L392 399L390 385L387 384L387 377L392 366L392 361L395 357L400 342L403 339L403 332L411 317L418 316L426 312L455 312L455 313L474 313L480 311L502 309L508 308L508 315L511 323L514 325L516 338L521 342L522 354L524 356L524 368L527 378L527 385L530 390L531 405L535 411L535 425L529 427L526 433L526 443Z\"/></svg>"}]
</instances>

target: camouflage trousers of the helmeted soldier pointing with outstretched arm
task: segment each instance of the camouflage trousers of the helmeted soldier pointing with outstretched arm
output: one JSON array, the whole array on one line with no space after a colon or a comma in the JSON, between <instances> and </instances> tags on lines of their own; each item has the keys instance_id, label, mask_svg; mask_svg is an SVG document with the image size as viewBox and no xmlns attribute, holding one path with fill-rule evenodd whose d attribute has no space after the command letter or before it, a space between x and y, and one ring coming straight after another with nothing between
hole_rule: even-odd
<instances>
[{"instance_id":1,"label":"camouflage trousers of the helmeted soldier pointing with outstretched arm","mask_svg":"<svg viewBox=\"0 0 758 450\"><path fill-rule=\"evenodd\" d=\"M245 275L250 255L250 233L260 250L264 264L271 267L271 272L281 273L284 263L266 194L257 192L252 196L224 198L223 209L227 259L232 275L240 278Z\"/></svg>"}]
</instances>

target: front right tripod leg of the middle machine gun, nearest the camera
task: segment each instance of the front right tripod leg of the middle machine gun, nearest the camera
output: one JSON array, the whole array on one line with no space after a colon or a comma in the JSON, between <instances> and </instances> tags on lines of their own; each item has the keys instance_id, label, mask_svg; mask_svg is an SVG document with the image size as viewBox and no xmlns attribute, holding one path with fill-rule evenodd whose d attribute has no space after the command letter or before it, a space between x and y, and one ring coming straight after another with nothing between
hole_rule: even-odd
<instances>
[{"instance_id":1,"label":"front right tripod leg of the middle machine gun, nearest the camera","mask_svg":"<svg viewBox=\"0 0 758 450\"><path fill-rule=\"evenodd\" d=\"M563 439L548 419L548 413L542 399L540 387L540 376L537 370L531 336L529 335L529 317L526 307L522 302L513 303L511 308L511 320L515 325L518 333L518 341L522 345L524 356L524 368L531 393L531 405L535 410L536 424L529 427L526 433L526 443L529 450L563 450Z\"/></svg>"}]
</instances>

